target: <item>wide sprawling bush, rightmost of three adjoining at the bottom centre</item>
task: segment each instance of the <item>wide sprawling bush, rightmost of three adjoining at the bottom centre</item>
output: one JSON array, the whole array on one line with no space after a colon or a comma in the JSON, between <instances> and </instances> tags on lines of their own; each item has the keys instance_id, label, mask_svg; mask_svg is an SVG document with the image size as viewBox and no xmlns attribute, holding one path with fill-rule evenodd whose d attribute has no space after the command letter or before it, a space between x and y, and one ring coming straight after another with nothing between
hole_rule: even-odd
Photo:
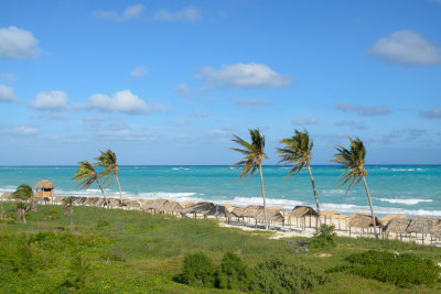
<instances>
[{"instance_id":1,"label":"wide sprawling bush, rightmost of three adjoining at the bottom centre","mask_svg":"<svg viewBox=\"0 0 441 294\"><path fill-rule=\"evenodd\" d=\"M259 263L254 271L251 290L263 293L303 293L327 282L325 275L304 266L272 258Z\"/></svg>"}]
</instances>

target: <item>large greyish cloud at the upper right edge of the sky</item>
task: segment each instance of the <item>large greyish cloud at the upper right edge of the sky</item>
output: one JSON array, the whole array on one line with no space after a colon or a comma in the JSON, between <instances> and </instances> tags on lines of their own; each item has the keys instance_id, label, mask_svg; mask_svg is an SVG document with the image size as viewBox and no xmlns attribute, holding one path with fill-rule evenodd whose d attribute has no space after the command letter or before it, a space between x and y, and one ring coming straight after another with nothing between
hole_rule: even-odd
<instances>
[{"instance_id":1,"label":"large greyish cloud at the upper right edge of the sky","mask_svg":"<svg viewBox=\"0 0 441 294\"><path fill-rule=\"evenodd\" d=\"M391 64L441 64L441 48L409 30L397 31L378 40L367 53Z\"/></svg>"}]
</instances>

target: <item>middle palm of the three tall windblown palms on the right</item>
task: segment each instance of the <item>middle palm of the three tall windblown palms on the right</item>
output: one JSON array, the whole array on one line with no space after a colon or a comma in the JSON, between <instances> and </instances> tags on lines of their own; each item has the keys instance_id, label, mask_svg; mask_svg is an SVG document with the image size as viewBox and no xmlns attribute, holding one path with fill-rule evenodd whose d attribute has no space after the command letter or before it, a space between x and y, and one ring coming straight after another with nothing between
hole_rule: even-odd
<instances>
[{"instance_id":1,"label":"middle palm of the three tall windblown palms on the right","mask_svg":"<svg viewBox=\"0 0 441 294\"><path fill-rule=\"evenodd\" d=\"M310 177L311 177L311 184L312 184L312 190L314 193L314 199L315 199L315 207L319 214L319 224L321 222L320 220L320 206L319 206L319 199L316 196L316 190L315 190L315 182L314 178L312 177L312 172L311 172L311 159L312 159L312 148L314 146L314 141L311 139L306 130L303 132L299 131L295 129L295 134L291 138L286 138L280 141L280 143L284 144L284 148L279 148L277 149L277 153L280 154L280 161L279 163L283 163L284 165L287 164L293 164L292 168L287 175L286 181L293 174L299 173L306 168Z\"/></svg>"}]
</instances>

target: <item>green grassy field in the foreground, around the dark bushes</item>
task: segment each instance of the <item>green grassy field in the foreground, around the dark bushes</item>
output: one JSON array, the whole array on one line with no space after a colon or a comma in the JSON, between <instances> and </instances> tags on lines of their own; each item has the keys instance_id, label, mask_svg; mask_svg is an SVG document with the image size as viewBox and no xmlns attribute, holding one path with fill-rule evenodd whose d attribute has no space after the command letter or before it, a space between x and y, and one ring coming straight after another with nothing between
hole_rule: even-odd
<instances>
[{"instance_id":1,"label":"green grassy field in the foreground, around the dark bushes","mask_svg":"<svg viewBox=\"0 0 441 294\"><path fill-rule=\"evenodd\" d=\"M13 203L3 206L13 211ZM28 225L0 222L0 293L64 292L63 283L73 281L78 272L73 265L78 255L84 260L82 271L87 273L87 290L80 291L85 293L234 293L173 282L185 254L198 251L216 264L226 251L232 251L250 266L275 255L322 273L345 264L349 254L368 249L413 252L441 262L440 248L395 240L336 238L335 248L298 253L302 238L270 240L271 232L220 228L209 219L96 207L74 207L71 231L69 218L63 216L61 207L49 205L37 209L28 215ZM61 218L51 218L53 210ZM313 293L441 292L441 283L400 288L341 272L330 274L330 280Z\"/></svg>"}]
</instances>

